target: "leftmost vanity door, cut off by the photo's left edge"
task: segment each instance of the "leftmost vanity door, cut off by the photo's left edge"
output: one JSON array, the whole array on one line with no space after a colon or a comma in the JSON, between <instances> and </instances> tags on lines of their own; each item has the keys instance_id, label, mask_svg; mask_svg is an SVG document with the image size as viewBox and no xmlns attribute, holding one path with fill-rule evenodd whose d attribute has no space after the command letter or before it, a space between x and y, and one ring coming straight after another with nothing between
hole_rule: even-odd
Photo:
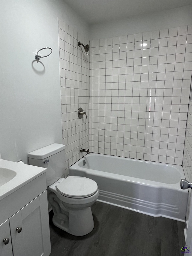
<instances>
[{"instance_id":1,"label":"leftmost vanity door, cut off by the photo's left edge","mask_svg":"<svg viewBox=\"0 0 192 256\"><path fill-rule=\"evenodd\" d=\"M4 244L4 239L9 240L6 240ZM0 256L13 256L8 220L6 220L0 225Z\"/></svg>"}]
</instances>

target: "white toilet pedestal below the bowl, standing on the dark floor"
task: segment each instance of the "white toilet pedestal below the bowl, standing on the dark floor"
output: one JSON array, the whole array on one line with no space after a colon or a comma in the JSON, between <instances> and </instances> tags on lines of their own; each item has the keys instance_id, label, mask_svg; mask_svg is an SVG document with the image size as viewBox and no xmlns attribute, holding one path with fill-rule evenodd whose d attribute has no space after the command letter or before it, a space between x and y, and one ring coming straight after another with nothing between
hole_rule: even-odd
<instances>
[{"instance_id":1,"label":"white toilet pedestal below the bowl, standing on the dark floor","mask_svg":"<svg viewBox=\"0 0 192 256\"><path fill-rule=\"evenodd\" d=\"M49 193L49 202L53 209L52 221L55 226L74 236L84 236L93 230L94 221L90 206L69 209L53 192Z\"/></svg>"}]
</instances>

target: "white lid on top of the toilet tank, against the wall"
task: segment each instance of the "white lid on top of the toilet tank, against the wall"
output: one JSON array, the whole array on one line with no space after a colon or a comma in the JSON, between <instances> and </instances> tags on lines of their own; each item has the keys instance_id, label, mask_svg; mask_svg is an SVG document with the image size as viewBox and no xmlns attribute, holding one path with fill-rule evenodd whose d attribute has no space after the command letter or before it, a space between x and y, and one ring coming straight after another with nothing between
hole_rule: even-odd
<instances>
[{"instance_id":1,"label":"white lid on top of the toilet tank, against the wall","mask_svg":"<svg viewBox=\"0 0 192 256\"><path fill-rule=\"evenodd\" d=\"M65 149L65 145L54 143L49 146L37 149L28 154L29 158L44 159Z\"/></svg>"}]
</instances>

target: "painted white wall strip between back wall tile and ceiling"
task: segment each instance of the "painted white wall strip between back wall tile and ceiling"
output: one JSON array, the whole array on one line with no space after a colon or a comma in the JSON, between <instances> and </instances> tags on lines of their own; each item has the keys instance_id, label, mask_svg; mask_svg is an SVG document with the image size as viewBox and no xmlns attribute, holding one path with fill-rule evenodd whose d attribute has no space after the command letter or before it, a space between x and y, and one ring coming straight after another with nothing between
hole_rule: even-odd
<instances>
[{"instance_id":1,"label":"painted white wall strip between back wall tile and ceiling","mask_svg":"<svg viewBox=\"0 0 192 256\"><path fill-rule=\"evenodd\" d=\"M115 22L97 23L89 27L89 39L131 35L158 29L175 28L192 24L192 5L154 12Z\"/></svg>"}]
</instances>

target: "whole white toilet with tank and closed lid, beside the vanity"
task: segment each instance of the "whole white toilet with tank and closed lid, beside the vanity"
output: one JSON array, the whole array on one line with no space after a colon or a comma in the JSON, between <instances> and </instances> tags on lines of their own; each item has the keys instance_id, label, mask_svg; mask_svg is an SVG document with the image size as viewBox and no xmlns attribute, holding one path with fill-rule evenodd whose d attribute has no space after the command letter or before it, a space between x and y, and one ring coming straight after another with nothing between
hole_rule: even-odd
<instances>
[{"instance_id":1,"label":"whole white toilet with tank and closed lid, beside the vanity","mask_svg":"<svg viewBox=\"0 0 192 256\"><path fill-rule=\"evenodd\" d=\"M99 196L92 179L64 176L65 146L51 144L28 154L29 164L46 168L49 203L53 209L53 224L62 230L84 236L94 227L91 205Z\"/></svg>"}]
</instances>

